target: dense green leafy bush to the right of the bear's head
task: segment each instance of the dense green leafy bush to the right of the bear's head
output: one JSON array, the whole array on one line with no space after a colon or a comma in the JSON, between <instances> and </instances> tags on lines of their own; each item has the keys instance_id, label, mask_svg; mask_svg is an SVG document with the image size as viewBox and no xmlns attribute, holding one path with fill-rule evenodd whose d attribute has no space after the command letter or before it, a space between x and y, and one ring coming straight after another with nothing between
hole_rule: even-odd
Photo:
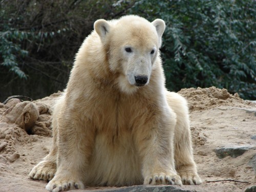
<instances>
[{"instance_id":1,"label":"dense green leafy bush to the right of the bear's head","mask_svg":"<svg viewBox=\"0 0 256 192\"><path fill-rule=\"evenodd\" d=\"M143 10L143 11L142 11ZM135 12L134 12L135 11ZM216 86L256 99L255 1L139 1L131 13L166 23L166 85Z\"/></svg>"}]
</instances>

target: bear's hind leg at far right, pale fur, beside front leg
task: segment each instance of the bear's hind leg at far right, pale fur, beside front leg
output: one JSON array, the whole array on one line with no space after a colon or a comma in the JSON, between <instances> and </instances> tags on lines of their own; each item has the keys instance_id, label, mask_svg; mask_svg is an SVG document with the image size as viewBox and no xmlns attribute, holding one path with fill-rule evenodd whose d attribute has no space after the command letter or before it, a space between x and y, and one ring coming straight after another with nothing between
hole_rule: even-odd
<instances>
[{"instance_id":1,"label":"bear's hind leg at far right, pale fur, beside front leg","mask_svg":"<svg viewBox=\"0 0 256 192\"><path fill-rule=\"evenodd\" d=\"M181 95L173 92L167 92L167 100L170 108L174 110L177 116L174 134L176 170L183 184L199 185L202 181L197 174L197 167L193 158L186 100Z\"/></svg>"}]
</instances>

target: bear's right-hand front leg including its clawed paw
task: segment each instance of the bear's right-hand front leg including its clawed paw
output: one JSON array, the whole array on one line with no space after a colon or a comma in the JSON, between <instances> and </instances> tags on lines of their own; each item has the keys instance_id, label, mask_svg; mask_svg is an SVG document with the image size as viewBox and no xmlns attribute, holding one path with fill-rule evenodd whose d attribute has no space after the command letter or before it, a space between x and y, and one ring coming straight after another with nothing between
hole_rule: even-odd
<instances>
[{"instance_id":1,"label":"bear's right-hand front leg including its clawed paw","mask_svg":"<svg viewBox=\"0 0 256 192\"><path fill-rule=\"evenodd\" d=\"M136 130L136 145L145 185L182 184L174 167L174 126L175 119L162 114L154 115ZM172 130L169 127L173 127Z\"/></svg>"}]
</instances>

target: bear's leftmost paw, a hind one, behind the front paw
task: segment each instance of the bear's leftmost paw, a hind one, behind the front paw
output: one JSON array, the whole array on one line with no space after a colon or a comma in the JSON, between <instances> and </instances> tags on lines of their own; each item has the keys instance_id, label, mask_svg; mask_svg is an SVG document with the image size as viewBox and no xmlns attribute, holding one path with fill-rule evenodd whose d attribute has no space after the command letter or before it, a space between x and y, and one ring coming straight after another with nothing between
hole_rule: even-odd
<instances>
[{"instance_id":1,"label":"bear's leftmost paw, a hind one, behind the front paw","mask_svg":"<svg viewBox=\"0 0 256 192\"><path fill-rule=\"evenodd\" d=\"M50 181L56 172L56 163L51 161L42 161L38 163L29 173L32 179Z\"/></svg>"}]
</instances>

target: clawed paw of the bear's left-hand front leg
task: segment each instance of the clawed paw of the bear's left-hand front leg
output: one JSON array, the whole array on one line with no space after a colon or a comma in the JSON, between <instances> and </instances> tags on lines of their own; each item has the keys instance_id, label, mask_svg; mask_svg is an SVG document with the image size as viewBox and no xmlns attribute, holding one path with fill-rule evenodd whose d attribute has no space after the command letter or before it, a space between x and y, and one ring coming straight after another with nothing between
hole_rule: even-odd
<instances>
[{"instance_id":1,"label":"clawed paw of the bear's left-hand front leg","mask_svg":"<svg viewBox=\"0 0 256 192\"><path fill-rule=\"evenodd\" d=\"M51 180L46 189L52 192L67 191L72 189L84 189L84 185L81 181L69 180L67 177Z\"/></svg>"}]
</instances>

